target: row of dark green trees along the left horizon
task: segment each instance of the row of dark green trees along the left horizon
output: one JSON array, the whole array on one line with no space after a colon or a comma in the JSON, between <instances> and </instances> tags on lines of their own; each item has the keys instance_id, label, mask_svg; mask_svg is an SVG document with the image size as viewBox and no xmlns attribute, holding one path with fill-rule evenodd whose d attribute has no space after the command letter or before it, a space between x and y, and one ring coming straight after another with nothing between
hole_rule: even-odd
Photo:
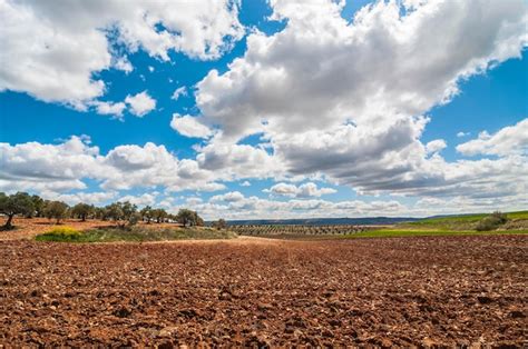
<instances>
[{"instance_id":1,"label":"row of dark green trees along the left horizon","mask_svg":"<svg viewBox=\"0 0 528 349\"><path fill-rule=\"evenodd\" d=\"M177 215L172 215L163 208L146 206L143 209L129 201L113 202L105 207L96 207L79 202L72 207L62 201L45 200L37 195L27 192L6 195L0 192L0 213L7 217L2 229L13 228L13 218L22 216L26 218L45 217L56 219L57 223L66 218L77 218L81 221L87 219L100 219L115 221L119 227L134 226L138 221L147 223L177 222L185 227L204 226L204 220L196 211L180 209Z\"/></svg>"}]
</instances>

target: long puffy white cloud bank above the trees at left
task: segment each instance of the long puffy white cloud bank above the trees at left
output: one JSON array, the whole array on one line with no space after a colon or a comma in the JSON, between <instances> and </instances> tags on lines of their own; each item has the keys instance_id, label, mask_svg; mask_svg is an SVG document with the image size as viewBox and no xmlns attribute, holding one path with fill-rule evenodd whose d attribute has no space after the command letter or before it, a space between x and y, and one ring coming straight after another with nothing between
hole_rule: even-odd
<instances>
[{"instance_id":1,"label":"long puffy white cloud bank above the trees at left","mask_svg":"<svg viewBox=\"0 0 528 349\"><path fill-rule=\"evenodd\" d=\"M119 146L106 156L75 136L59 144L0 143L0 190L66 193L86 189L86 179L100 182L110 192L158 186L168 192L225 188L195 160L180 160L164 146L150 142Z\"/></svg>"}]
</instances>

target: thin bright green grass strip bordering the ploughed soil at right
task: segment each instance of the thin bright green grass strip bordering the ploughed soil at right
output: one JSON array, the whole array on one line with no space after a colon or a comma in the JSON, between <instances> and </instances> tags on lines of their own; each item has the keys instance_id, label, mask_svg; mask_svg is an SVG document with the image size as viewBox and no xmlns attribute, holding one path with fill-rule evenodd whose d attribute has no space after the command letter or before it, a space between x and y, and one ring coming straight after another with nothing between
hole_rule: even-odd
<instances>
[{"instance_id":1,"label":"thin bright green grass strip bordering the ploughed soil at right","mask_svg":"<svg viewBox=\"0 0 528 349\"><path fill-rule=\"evenodd\" d=\"M482 235L524 235L528 233L528 229L524 230L493 230L493 231L475 231L475 230L420 230L420 229L380 229L358 233L342 236L342 239L355 238L397 238L397 237L437 237L437 236L482 236Z\"/></svg>"}]
</instances>

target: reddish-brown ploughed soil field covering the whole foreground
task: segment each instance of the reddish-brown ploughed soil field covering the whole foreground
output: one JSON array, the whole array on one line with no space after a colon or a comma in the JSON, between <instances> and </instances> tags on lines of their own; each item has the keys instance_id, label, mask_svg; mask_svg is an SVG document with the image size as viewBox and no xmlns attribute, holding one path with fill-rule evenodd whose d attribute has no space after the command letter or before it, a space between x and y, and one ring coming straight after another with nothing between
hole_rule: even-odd
<instances>
[{"instance_id":1,"label":"reddish-brown ploughed soil field covering the whole foreground","mask_svg":"<svg viewBox=\"0 0 528 349\"><path fill-rule=\"evenodd\" d=\"M0 242L0 347L527 346L528 237Z\"/></svg>"}]
</instances>

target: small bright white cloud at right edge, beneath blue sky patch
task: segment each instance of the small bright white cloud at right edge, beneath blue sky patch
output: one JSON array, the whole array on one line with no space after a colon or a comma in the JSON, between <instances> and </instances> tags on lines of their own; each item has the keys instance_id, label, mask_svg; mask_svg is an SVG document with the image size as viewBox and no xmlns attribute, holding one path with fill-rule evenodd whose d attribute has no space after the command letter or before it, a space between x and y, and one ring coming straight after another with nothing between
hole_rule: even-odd
<instances>
[{"instance_id":1,"label":"small bright white cloud at right edge, beneath blue sky patch","mask_svg":"<svg viewBox=\"0 0 528 349\"><path fill-rule=\"evenodd\" d=\"M457 146L457 151L465 156L527 154L528 119L524 119L515 126L505 127L492 136L483 131L479 134L478 139Z\"/></svg>"}]
</instances>

